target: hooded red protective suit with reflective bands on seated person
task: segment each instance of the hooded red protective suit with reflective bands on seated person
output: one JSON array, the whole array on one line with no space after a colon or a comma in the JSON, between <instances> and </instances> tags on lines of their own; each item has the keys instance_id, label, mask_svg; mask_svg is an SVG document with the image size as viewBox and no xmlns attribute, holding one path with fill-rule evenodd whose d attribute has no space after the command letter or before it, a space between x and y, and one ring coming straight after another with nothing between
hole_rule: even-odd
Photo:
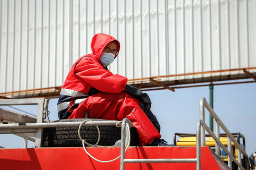
<instances>
[{"instance_id":1,"label":"hooded red protective suit with reflective bands on seated person","mask_svg":"<svg viewBox=\"0 0 256 170\"><path fill-rule=\"evenodd\" d=\"M137 99L125 92L127 78L112 74L101 66L101 53L112 41L107 34L95 34L92 53L78 59L69 71L57 103L59 119L89 118L122 120L128 118L136 127L142 145L161 135L139 107ZM117 54L115 58L117 57Z\"/></svg>"}]
</instances>

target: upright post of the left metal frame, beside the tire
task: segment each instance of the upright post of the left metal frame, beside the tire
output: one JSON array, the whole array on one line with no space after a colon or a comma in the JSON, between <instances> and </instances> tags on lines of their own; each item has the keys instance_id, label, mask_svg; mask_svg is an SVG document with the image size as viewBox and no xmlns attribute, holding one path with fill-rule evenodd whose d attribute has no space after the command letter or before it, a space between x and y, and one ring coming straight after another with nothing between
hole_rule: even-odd
<instances>
[{"instance_id":1,"label":"upright post of the left metal frame, beside the tire","mask_svg":"<svg viewBox=\"0 0 256 170\"><path fill-rule=\"evenodd\" d=\"M43 103L38 103L37 123L42 123L43 122L43 111L44 111L44 104ZM43 134L42 128L37 128L36 147L41 147L41 144L42 144L42 141L41 141L42 134Z\"/></svg>"}]
</instances>

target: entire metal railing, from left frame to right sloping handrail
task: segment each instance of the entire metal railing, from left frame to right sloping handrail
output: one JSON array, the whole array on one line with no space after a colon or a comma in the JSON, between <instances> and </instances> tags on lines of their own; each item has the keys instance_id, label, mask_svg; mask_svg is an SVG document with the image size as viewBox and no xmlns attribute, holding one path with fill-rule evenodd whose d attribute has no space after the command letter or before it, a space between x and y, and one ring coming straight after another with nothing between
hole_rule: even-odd
<instances>
[{"instance_id":1,"label":"entire metal railing, from left frame to right sloping handrail","mask_svg":"<svg viewBox=\"0 0 256 170\"><path fill-rule=\"evenodd\" d=\"M37 123L26 123L26 124L3 124L0 126L0 134L18 134L18 136L23 137L25 140L35 141L36 147L42 146L42 128L44 127L78 127L80 122L44 122L43 119L47 114L48 100L44 98L33 98L33 99L1 99L1 105L30 105L37 104ZM212 117L215 119L215 134L210 130L210 128L204 122L205 119L205 110L206 108ZM99 120L99 121L89 121L82 126L111 126L116 125L119 121L116 120ZM201 170L201 145L205 145L205 130L208 131L210 136L216 141L216 154L220 155L220 147L229 155L228 165L232 169L232 160L238 165L239 170L245 170L241 165L241 153L248 160L248 155L244 149L238 144L237 140L229 132L227 127L222 123L217 114L212 110L209 103L205 98L200 100L200 119L197 122L197 133L196 133L196 158L191 159L125 159L125 138L126 138L126 124L128 123L129 127L132 126L132 123L127 119L123 119L121 126L121 159L120 159L120 170L124 170L125 163L196 163L196 169ZM228 149L219 141L219 126L225 131L228 136ZM36 133L36 139L30 138L28 136L19 135L20 133ZM238 161L231 153L231 141L238 148ZM24 144L26 146L26 142ZM248 163L248 162L247 162ZM248 165L248 164L247 164ZM249 166L246 166L249 167ZM247 169L248 170L248 169Z\"/></svg>"}]
</instances>

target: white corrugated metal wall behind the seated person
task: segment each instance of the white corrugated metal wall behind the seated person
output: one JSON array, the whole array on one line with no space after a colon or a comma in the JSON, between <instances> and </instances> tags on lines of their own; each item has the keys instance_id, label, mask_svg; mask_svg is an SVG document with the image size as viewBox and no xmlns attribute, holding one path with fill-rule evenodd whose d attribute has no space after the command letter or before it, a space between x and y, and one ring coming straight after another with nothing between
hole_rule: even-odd
<instances>
[{"instance_id":1,"label":"white corrugated metal wall behind the seated person","mask_svg":"<svg viewBox=\"0 0 256 170\"><path fill-rule=\"evenodd\" d=\"M256 0L0 0L0 93L61 86L96 33L128 79L256 67Z\"/></svg>"}]
</instances>

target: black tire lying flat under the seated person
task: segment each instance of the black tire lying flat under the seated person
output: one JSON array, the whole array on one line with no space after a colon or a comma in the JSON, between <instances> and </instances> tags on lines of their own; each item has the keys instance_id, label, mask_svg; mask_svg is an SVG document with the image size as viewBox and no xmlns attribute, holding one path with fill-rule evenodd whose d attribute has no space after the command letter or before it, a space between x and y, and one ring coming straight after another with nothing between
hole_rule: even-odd
<instances>
[{"instance_id":1,"label":"black tire lying flat under the seated person","mask_svg":"<svg viewBox=\"0 0 256 170\"><path fill-rule=\"evenodd\" d=\"M55 122L83 121L85 119L61 119ZM102 119L90 119L93 121ZM111 146L121 139L121 128L116 126L98 126L101 137L98 145ZM79 127L47 127L43 130L43 147L81 147L82 141L78 136ZM131 146L138 146L138 134L135 127L130 128ZM95 126L81 127L80 136L89 144L98 141L98 130ZM86 145L86 144L85 144Z\"/></svg>"}]
</instances>

